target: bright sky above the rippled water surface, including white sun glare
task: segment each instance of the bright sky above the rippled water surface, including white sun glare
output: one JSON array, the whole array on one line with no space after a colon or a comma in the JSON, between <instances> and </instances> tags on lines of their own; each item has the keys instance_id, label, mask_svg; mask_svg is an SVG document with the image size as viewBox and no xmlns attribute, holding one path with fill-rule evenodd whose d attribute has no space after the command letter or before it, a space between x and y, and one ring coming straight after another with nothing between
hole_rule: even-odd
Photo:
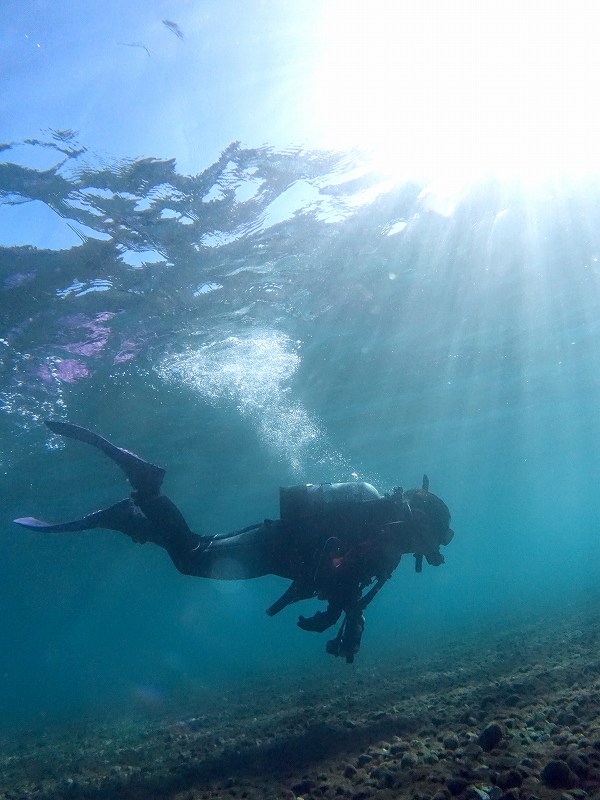
<instances>
[{"instance_id":1,"label":"bright sky above the rippled water surface, including white sun glare","mask_svg":"<svg viewBox=\"0 0 600 800\"><path fill-rule=\"evenodd\" d=\"M401 179L595 170L597 16L590 0L9 0L2 138L69 128L191 174L236 139L359 147Z\"/></svg>"}]
</instances>

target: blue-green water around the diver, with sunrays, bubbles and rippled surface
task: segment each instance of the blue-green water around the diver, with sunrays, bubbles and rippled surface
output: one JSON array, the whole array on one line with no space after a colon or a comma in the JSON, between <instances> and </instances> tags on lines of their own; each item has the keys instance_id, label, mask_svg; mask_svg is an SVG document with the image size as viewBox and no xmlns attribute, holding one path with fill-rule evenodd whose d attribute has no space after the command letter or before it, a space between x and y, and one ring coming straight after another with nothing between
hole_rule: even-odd
<instances>
[{"instance_id":1,"label":"blue-green water around the diver, with sunrays, bubbles and rippled surface","mask_svg":"<svg viewBox=\"0 0 600 800\"><path fill-rule=\"evenodd\" d=\"M0 249L3 725L334 676L596 597L595 182L490 180L449 203L347 153L231 145L187 175L48 136L52 169L11 147L0 164L32 231L45 208L77 234ZM276 517L280 485L427 472L455 539L439 568L402 561L350 667L296 627L316 601L265 615L279 579L212 583L117 533L13 526L128 493L48 417L166 467L198 532Z\"/></svg>"}]
</instances>

